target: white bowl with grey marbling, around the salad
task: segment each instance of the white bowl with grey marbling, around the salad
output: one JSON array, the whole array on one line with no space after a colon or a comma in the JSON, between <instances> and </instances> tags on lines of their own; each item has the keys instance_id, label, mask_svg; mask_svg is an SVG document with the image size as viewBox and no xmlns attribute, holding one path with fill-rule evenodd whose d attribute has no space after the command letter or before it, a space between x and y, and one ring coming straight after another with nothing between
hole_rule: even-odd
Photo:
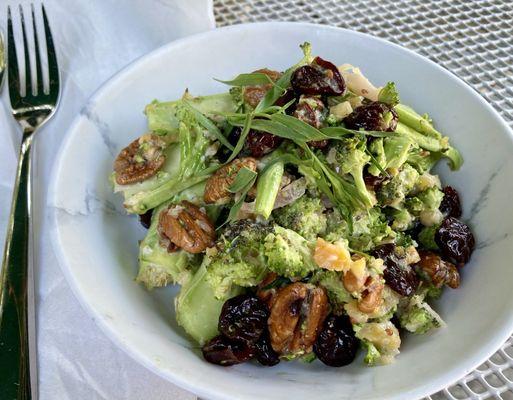
<instances>
[{"instance_id":1,"label":"white bowl with grey marbling, around the salad","mask_svg":"<svg viewBox=\"0 0 513 400\"><path fill-rule=\"evenodd\" d=\"M429 112L466 162L456 187L464 219L477 239L462 286L437 305L448 324L429 336L407 336L395 364L345 368L320 362L245 364L222 368L203 361L177 326L169 287L148 293L134 282L137 241L144 230L127 216L108 182L117 152L145 131L144 106L154 98L226 90L212 78L295 63L298 45L363 69L371 81L397 82L403 102ZM478 366L513 327L512 133L461 80L421 56L364 34L304 23L238 25L178 40L125 68L90 100L63 143L49 198L53 242L77 297L105 333L155 373L212 399L408 399L425 396ZM94 356L94 355L93 355Z\"/></svg>"}]
</instances>

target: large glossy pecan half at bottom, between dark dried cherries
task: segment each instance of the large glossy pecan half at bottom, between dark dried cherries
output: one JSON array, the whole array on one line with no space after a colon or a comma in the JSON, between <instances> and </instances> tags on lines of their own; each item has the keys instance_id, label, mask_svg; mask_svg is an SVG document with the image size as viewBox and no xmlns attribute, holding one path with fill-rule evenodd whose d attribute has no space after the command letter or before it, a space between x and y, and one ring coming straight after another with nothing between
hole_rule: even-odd
<instances>
[{"instance_id":1,"label":"large glossy pecan half at bottom, between dark dried cherries","mask_svg":"<svg viewBox=\"0 0 513 400\"><path fill-rule=\"evenodd\" d=\"M268 320L271 346L279 354L304 354L312 346L328 313L324 289L301 282L281 288Z\"/></svg>"}]
</instances>

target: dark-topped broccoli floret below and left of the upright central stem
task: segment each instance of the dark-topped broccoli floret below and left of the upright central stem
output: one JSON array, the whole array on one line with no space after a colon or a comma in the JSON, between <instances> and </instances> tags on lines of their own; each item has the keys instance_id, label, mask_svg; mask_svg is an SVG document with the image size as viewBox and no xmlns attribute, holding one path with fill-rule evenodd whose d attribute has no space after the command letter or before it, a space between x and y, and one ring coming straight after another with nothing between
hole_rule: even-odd
<instances>
[{"instance_id":1,"label":"dark-topped broccoli floret below and left of the upright central stem","mask_svg":"<svg viewBox=\"0 0 513 400\"><path fill-rule=\"evenodd\" d=\"M266 273L264 238L269 230L246 220L226 228L214 248L207 251L206 281L218 299L232 286L256 286Z\"/></svg>"}]
</instances>

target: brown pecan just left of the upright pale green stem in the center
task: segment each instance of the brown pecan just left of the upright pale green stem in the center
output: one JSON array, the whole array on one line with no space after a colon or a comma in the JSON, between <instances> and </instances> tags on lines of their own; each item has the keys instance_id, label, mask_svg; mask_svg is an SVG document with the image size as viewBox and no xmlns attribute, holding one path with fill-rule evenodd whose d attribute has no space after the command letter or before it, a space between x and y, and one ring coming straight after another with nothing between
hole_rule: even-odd
<instances>
[{"instance_id":1,"label":"brown pecan just left of the upright pale green stem in the center","mask_svg":"<svg viewBox=\"0 0 513 400\"><path fill-rule=\"evenodd\" d=\"M203 198L205 203L224 204L230 201L232 194L228 188L235 181L235 177L241 168L246 167L256 171L257 162L254 158L236 158L230 164L219 168L205 185Z\"/></svg>"}]
</instances>

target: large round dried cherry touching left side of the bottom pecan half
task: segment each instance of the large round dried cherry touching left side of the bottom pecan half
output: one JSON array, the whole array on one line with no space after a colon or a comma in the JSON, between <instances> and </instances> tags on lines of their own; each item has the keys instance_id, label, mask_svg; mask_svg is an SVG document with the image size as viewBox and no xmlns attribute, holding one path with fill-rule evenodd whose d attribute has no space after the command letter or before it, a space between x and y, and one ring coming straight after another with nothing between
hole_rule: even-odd
<instances>
[{"instance_id":1,"label":"large round dried cherry touching left side of the bottom pecan half","mask_svg":"<svg viewBox=\"0 0 513 400\"><path fill-rule=\"evenodd\" d=\"M242 294L227 300L219 316L219 332L227 338L255 343L267 328L269 311L258 298Z\"/></svg>"}]
</instances>

